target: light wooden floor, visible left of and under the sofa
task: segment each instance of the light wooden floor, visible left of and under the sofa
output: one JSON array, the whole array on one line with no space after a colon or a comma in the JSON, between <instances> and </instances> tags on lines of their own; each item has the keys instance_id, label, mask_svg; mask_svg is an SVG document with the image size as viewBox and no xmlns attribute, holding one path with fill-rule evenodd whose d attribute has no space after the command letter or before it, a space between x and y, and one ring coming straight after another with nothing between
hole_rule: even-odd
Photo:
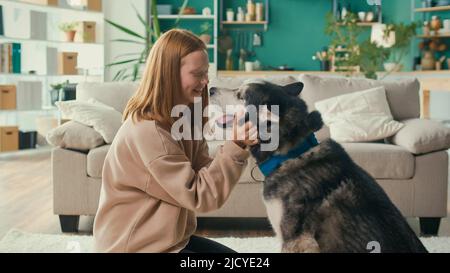
<instances>
[{"instance_id":1,"label":"light wooden floor, visible left of and under the sofa","mask_svg":"<svg viewBox=\"0 0 450 273\"><path fill-rule=\"evenodd\" d=\"M12 228L60 234L58 217L53 215L52 196L49 149L0 155L0 238ZM416 219L408 219L408 222L418 231ZM92 224L92 217L82 217L80 233L92 234ZM267 221L262 219L207 219L199 220L197 235L259 237L273 233ZM439 235L450 236L450 217L443 219Z\"/></svg>"}]
</instances>

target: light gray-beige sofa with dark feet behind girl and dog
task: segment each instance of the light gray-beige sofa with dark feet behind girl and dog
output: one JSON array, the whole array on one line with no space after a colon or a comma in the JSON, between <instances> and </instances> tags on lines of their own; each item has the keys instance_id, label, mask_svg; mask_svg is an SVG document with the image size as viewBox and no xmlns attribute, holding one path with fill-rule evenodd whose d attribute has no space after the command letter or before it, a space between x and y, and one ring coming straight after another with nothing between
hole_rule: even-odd
<instances>
[{"instance_id":1,"label":"light gray-beige sofa with dark feet behind girl and dog","mask_svg":"<svg viewBox=\"0 0 450 273\"><path fill-rule=\"evenodd\" d=\"M234 88L245 79L213 79L210 87ZM392 115L405 122L406 126L385 143L343 143L343 146L356 163L376 178L405 217L420 218L422 233L437 233L440 218L447 215L446 149L450 146L450 138L447 139L448 131L440 124L419 119L420 86L417 80L380 82L304 74L267 80L278 84L302 81L305 88L301 96L311 109L318 100L384 85ZM95 98L122 112L136 86L132 83L83 83L77 87L77 100ZM425 136L421 136L423 133ZM434 133L445 138L430 137ZM328 136L326 127L318 133L319 140ZM212 156L221 144L220 141L209 142ZM59 147L53 149L54 213L60 217L63 232L76 231L80 215L95 215L102 166L108 149L109 145L87 153ZM266 217L261 198L262 185L250 175L254 166L253 159L250 159L230 199L220 210L199 217ZM259 173L256 176L257 179L262 178Z\"/></svg>"}]
</instances>

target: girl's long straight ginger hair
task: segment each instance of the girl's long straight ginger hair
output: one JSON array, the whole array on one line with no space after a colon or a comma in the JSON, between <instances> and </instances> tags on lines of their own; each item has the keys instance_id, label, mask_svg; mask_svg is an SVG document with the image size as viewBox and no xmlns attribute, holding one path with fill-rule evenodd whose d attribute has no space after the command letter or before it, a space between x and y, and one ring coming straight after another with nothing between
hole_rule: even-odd
<instances>
[{"instance_id":1,"label":"girl's long straight ginger hair","mask_svg":"<svg viewBox=\"0 0 450 273\"><path fill-rule=\"evenodd\" d=\"M153 45L144 75L136 93L128 101L123 120L158 120L172 125L170 116L174 96L181 90L181 59L192 52L205 50L205 43L187 30L172 29ZM202 93L202 112L208 106L207 87ZM203 126L207 119L203 118Z\"/></svg>"}]
</instances>

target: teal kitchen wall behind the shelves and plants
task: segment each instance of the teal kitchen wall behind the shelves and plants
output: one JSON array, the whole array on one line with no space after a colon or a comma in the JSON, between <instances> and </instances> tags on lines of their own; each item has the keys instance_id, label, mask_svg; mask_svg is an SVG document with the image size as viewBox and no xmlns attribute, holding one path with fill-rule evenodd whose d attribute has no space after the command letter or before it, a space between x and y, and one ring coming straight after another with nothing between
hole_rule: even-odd
<instances>
[{"instance_id":1,"label":"teal kitchen wall behind the shelves and plants","mask_svg":"<svg viewBox=\"0 0 450 273\"><path fill-rule=\"evenodd\" d=\"M254 0L264 2L263 0ZM224 0L225 8L232 7L237 10L237 6L245 7L246 0ZM319 70L318 61L312 60L312 56L322 47L327 46L330 39L324 34L325 15L332 10L332 0L271 0L270 1L270 24L263 34L263 46L254 48L256 57L264 67L288 65L296 70ZM179 6L182 0L159 0L158 3L173 4ZM368 11L373 7L367 4L366 0L341 0L344 6L350 5L352 11ZM212 1L190 0L189 6L195 7L201 12L202 7L209 5L212 8ZM432 15L439 15L441 18L450 18L449 12L439 12L435 14L413 13L412 5L421 6L421 0L383 0L383 22L385 23L410 23L413 20L428 19ZM173 22L172 22L173 23ZM179 27L199 31L202 22L186 21ZM170 22L163 22L163 29L170 28ZM249 30L246 39L250 37L254 30ZM237 31L228 31L236 43L238 40ZM421 33L421 29L418 30ZM219 32L219 36L223 32ZM363 38L368 38L370 28L364 28ZM242 36L240 36L242 40ZM404 59L405 70L411 70L414 56L419 56L419 39L414 39L408 56ZM237 66L238 46L235 45L235 66ZM212 50L210 50L212 54ZM219 54L219 69L224 69L225 55ZM446 66L444 66L446 67Z\"/></svg>"}]
</instances>

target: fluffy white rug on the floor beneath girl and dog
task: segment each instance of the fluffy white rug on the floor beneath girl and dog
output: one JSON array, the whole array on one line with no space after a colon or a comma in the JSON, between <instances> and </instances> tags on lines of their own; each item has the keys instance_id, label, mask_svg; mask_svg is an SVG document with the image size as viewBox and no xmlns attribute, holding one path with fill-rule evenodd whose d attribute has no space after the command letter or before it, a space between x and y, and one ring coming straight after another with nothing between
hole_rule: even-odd
<instances>
[{"instance_id":1,"label":"fluffy white rug on the floor beneath girl and dog","mask_svg":"<svg viewBox=\"0 0 450 273\"><path fill-rule=\"evenodd\" d=\"M274 237L212 238L240 253L277 253ZM428 251L450 253L450 237L421 238ZM10 230L0 241L0 253L91 253L92 236L32 234Z\"/></svg>"}]
</instances>

